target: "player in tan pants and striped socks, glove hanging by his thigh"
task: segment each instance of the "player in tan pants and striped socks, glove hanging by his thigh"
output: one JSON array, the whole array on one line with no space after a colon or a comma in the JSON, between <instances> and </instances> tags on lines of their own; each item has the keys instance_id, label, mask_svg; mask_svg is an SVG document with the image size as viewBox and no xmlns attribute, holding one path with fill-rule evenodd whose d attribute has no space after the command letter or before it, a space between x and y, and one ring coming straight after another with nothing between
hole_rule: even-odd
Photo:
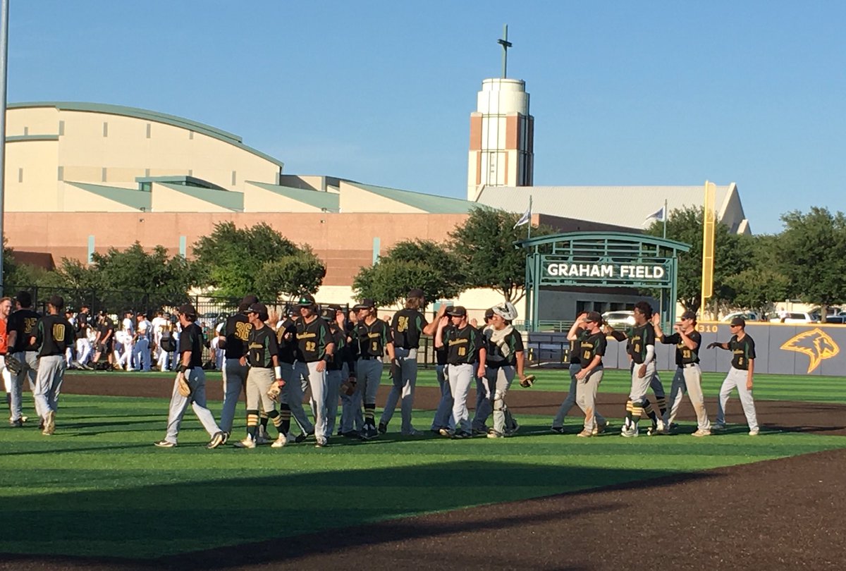
<instances>
[{"instance_id":1,"label":"player in tan pants and striped socks, glove hanging by his thigh","mask_svg":"<svg viewBox=\"0 0 846 571\"><path fill-rule=\"evenodd\" d=\"M279 366L279 348L276 332L265 325L267 307L255 303L246 310L250 320L250 334L247 338L247 352L241 357L241 364L250 365L247 372L247 436L235 442L239 448L255 448L259 429L259 415L263 411L272 420L279 435L271 447L281 448L288 439L282 428L282 417L273 404L282 393L285 382L282 380L282 367ZM261 408L261 410L260 410Z\"/></svg>"}]
</instances>

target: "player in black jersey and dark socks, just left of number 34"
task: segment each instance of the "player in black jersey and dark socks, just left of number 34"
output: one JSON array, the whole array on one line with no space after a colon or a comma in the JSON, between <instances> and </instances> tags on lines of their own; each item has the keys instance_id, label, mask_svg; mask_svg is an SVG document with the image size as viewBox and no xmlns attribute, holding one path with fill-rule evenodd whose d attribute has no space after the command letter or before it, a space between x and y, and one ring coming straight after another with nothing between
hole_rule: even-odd
<instances>
[{"instance_id":1,"label":"player in black jersey and dark socks, just left of number 34","mask_svg":"<svg viewBox=\"0 0 846 571\"><path fill-rule=\"evenodd\" d=\"M371 440L379 436L376 428L376 392L382 379L382 359L387 351L388 359L393 364L396 354L393 350L390 328L385 321L376 316L376 304L372 299L362 299L353 310L358 313L359 321L355 326L355 338L359 346L359 359L355 364L356 391L353 395L356 407L364 403L365 426L361 429L361 438ZM395 365L392 365L392 369ZM392 370L392 373L394 371ZM353 372L350 372L353 376Z\"/></svg>"}]
</instances>

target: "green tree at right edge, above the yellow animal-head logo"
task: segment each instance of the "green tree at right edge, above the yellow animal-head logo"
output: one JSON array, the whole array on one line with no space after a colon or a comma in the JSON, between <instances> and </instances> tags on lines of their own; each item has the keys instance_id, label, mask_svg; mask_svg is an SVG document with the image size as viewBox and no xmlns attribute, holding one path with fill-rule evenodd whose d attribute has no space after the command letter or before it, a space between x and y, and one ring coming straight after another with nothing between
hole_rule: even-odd
<instances>
[{"instance_id":1,"label":"green tree at right edge, above the yellow animal-head logo","mask_svg":"<svg viewBox=\"0 0 846 571\"><path fill-rule=\"evenodd\" d=\"M805 303L830 306L846 301L846 217L827 208L782 215L778 264L789 277L789 293Z\"/></svg>"}]
</instances>

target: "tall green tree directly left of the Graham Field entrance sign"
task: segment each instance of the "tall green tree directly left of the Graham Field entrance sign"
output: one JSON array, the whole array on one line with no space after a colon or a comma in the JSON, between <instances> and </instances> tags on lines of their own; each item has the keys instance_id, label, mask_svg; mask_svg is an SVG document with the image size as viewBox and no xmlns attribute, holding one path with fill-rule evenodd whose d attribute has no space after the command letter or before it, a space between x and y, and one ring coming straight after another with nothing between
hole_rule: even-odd
<instances>
[{"instance_id":1,"label":"tall green tree directly left of the Graham Field entrance sign","mask_svg":"<svg viewBox=\"0 0 846 571\"><path fill-rule=\"evenodd\" d=\"M492 288L514 303L525 294L527 252L514 245L526 238L525 226L514 228L519 214L476 207L462 226L449 234L450 250L466 272L470 288ZM533 236L554 233L548 226L532 229Z\"/></svg>"}]
</instances>

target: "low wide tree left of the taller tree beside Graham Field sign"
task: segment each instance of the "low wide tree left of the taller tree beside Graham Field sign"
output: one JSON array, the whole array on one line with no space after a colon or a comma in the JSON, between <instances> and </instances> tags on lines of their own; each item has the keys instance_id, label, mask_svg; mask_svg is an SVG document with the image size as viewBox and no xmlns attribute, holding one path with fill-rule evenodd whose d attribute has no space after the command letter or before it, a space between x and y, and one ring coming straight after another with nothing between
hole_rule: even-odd
<instances>
[{"instance_id":1,"label":"low wide tree left of the taller tree beside Graham Field sign","mask_svg":"<svg viewBox=\"0 0 846 571\"><path fill-rule=\"evenodd\" d=\"M449 299L464 289L459 260L442 244L431 240L404 240L370 267L361 268L353 288L377 305L393 305L411 288L420 288L427 300Z\"/></svg>"}]
</instances>

